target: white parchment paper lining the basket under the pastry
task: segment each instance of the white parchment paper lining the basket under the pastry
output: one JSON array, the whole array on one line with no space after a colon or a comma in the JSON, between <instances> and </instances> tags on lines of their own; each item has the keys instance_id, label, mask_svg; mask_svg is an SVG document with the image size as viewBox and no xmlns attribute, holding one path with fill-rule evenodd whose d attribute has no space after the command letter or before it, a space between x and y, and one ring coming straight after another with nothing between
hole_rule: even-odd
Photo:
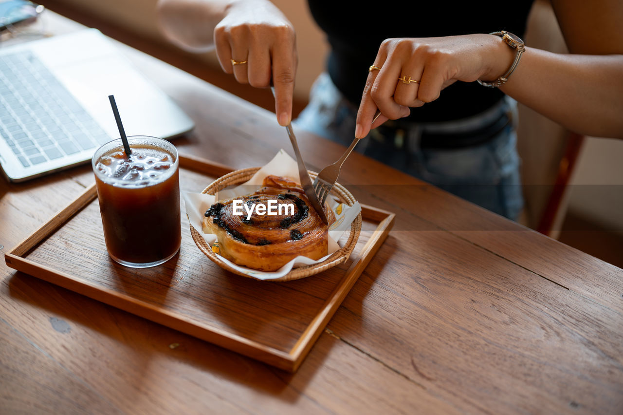
<instances>
[{"instance_id":1,"label":"white parchment paper lining the basket under the pastry","mask_svg":"<svg viewBox=\"0 0 623 415\"><path fill-rule=\"evenodd\" d=\"M262 187L262 181L269 174L285 176L293 179L297 183L299 182L297 162L293 160L288 153L280 150L273 160L271 160L264 167L260 168L252 178L245 183L242 183L240 186L233 189L219 191L215 196L203 193L184 192L183 196L186 203L186 216L188 217L188 221L191 225L193 225L197 232L199 232L199 234L202 234L206 242L211 247L214 246L214 243L218 242L216 235L204 234L203 232L203 218L207 209L209 209L210 206L212 206L212 204L216 201L234 198L235 196L244 196L245 194L254 192ZM298 256L274 272L264 272L247 267L241 267L240 265L236 265L224 257L221 257L221 260L232 268L259 280L277 279L283 277L285 274L288 274L292 268L322 262L333 254L333 252L340 249L340 246L336 241L340 240L340 237L345 231L350 230L351 223L357 217L359 212L361 212L359 202L355 202L353 206L348 206L343 203L338 203L338 201L335 201L331 197L327 200L329 201L329 206L333 210L333 214L335 214L336 220L329 228L328 254L325 257L313 260L308 257Z\"/></svg>"}]
</instances>

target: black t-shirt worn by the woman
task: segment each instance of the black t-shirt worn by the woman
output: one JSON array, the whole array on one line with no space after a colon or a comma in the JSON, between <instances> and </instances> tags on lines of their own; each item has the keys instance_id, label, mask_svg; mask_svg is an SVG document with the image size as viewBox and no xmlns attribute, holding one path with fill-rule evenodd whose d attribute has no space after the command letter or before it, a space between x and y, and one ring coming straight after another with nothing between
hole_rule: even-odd
<instances>
[{"instance_id":1,"label":"black t-shirt worn by the woman","mask_svg":"<svg viewBox=\"0 0 623 415\"><path fill-rule=\"evenodd\" d=\"M374 63L385 39L502 30L523 37L532 2L308 0L314 19L331 44L329 75L345 97L357 106L368 67ZM434 102L412 108L409 119L439 122L470 117L487 110L502 97L503 93L497 88L486 88L477 82L455 82L442 90Z\"/></svg>"}]
</instances>

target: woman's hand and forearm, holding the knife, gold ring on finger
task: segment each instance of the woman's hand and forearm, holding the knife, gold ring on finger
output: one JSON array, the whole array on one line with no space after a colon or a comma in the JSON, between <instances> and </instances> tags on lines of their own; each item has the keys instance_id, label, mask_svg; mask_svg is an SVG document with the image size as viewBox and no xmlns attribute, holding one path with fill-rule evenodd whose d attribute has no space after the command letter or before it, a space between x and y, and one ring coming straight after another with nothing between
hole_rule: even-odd
<instances>
[{"instance_id":1,"label":"woman's hand and forearm, holding the knife, gold ring on finger","mask_svg":"<svg viewBox=\"0 0 623 415\"><path fill-rule=\"evenodd\" d=\"M158 19L169 41L191 52L216 46L221 67L240 83L275 85L281 125L292 118L297 70L294 27L269 0L159 0ZM245 64L232 64L232 59Z\"/></svg>"}]
</instances>

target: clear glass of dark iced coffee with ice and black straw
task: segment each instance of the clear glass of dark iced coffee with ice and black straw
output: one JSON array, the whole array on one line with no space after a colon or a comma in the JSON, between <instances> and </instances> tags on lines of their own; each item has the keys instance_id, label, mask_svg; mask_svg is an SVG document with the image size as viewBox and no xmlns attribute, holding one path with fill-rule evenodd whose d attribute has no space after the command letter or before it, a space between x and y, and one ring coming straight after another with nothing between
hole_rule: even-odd
<instances>
[{"instance_id":1,"label":"clear glass of dark iced coffee with ice and black straw","mask_svg":"<svg viewBox=\"0 0 623 415\"><path fill-rule=\"evenodd\" d=\"M128 136L93 155L102 225L110 257L121 265L153 267L171 259L181 244L178 151L166 140Z\"/></svg>"}]
</instances>

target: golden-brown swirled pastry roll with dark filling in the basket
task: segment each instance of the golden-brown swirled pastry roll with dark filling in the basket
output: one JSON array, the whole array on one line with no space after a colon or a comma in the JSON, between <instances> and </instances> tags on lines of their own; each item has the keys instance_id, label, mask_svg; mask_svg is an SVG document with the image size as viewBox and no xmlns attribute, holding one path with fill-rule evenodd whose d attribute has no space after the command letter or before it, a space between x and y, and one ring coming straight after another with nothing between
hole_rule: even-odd
<instances>
[{"instance_id":1,"label":"golden-brown swirled pastry roll with dark filling in the basket","mask_svg":"<svg viewBox=\"0 0 623 415\"><path fill-rule=\"evenodd\" d=\"M329 227L301 186L280 176L267 176L262 184L252 194L219 201L206 211L203 230L216 234L220 254L262 271L278 270L298 255L325 256ZM326 204L325 213L333 223L335 216Z\"/></svg>"}]
</instances>

